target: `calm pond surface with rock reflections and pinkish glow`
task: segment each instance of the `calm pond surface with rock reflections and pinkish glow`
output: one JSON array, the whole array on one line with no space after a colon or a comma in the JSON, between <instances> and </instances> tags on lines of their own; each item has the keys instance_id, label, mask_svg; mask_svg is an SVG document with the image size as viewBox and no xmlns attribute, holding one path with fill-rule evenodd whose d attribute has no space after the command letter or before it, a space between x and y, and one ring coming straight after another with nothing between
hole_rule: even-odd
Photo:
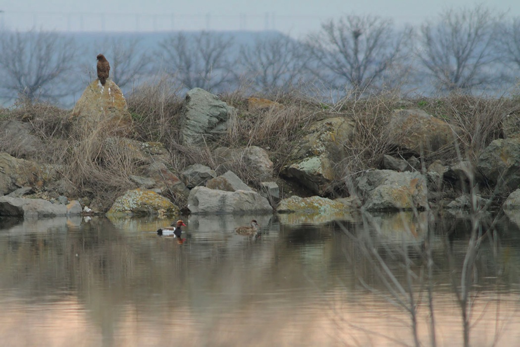
<instances>
[{"instance_id":1,"label":"calm pond surface with rock reflections and pinkish glow","mask_svg":"<svg viewBox=\"0 0 520 347\"><path fill-rule=\"evenodd\" d=\"M352 236L366 235L406 284L406 249L430 344L420 256L427 216L340 221L255 216L257 239L232 233L250 216L186 217L184 237L155 234L171 221L0 219L0 344L9 346L412 345L410 316ZM520 216L484 236L473 271L471 342L520 342ZM433 297L439 346L462 345L454 293L469 221L435 224ZM447 237L446 235L450 235ZM372 258L373 259L373 258ZM457 284L457 281L455 281ZM460 284L460 279L459 282ZM406 287L406 286L405 286Z\"/></svg>"}]
</instances>

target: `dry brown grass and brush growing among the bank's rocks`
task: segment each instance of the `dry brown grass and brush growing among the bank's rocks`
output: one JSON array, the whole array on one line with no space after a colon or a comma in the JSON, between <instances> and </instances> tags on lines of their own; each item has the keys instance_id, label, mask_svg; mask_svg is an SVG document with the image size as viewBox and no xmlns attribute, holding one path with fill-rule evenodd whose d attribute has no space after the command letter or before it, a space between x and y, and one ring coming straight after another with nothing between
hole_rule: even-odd
<instances>
[{"instance_id":1,"label":"dry brown grass and brush growing among the bank's rocks","mask_svg":"<svg viewBox=\"0 0 520 347\"><path fill-rule=\"evenodd\" d=\"M129 98L134 119L133 138L162 142L171 153L172 171L201 163L218 169L219 158L213 154L218 146L244 148L259 146L269 152L275 164L275 175L290 160L290 153L306 128L316 120L346 117L355 123L356 136L344 144L344 156L337 162L341 177L354 178L360 172L378 168L390 149L384 137L388 115L399 108L421 108L435 117L460 126L462 157L475 158L491 140L501 136L501 122L507 114L518 112L518 104L507 98L483 98L452 94L442 98L417 98L402 101L397 93L385 92L370 97L347 96L335 104L320 102L297 91L276 95L255 95L277 102L277 105L248 110L242 91L220 96L237 108L237 119L229 132L217 143L203 147L183 146L179 141L180 110L183 98L167 81L142 86ZM281 106L280 106L281 105ZM33 133L44 143L34 159L59 164L63 178L74 187L75 197L87 196L106 208L106 203L133 187L128 176L139 174L140 165L128 149L107 146L107 124L85 128L70 120L70 111L48 104L31 104L21 100L10 109L2 109L3 119L28 122ZM0 150L15 152L12 144L0 139ZM244 182L256 185L254 173L245 161L230 164ZM72 196L74 197L74 196Z\"/></svg>"}]
</instances>

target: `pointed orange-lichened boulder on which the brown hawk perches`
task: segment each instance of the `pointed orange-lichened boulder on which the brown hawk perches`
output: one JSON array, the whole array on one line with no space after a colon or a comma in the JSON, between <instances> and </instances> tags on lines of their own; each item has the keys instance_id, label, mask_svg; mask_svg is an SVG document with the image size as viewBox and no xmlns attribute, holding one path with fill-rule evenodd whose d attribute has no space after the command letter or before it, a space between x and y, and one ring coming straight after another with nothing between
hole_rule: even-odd
<instances>
[{"instance_id":1,"label":"pointed orange-lichened boulder on which the brown hawk perches","mask_svg":"<svg viewBox=\"0 0 520 347\"><path fill-rule=\"evenodd\" d=\"M132 130L126 99L112 80L104 86L97 79L90 83L74 105L72 117L86 128L102 126L107 135L126 135Z\"/></svg>"}]
</instances>

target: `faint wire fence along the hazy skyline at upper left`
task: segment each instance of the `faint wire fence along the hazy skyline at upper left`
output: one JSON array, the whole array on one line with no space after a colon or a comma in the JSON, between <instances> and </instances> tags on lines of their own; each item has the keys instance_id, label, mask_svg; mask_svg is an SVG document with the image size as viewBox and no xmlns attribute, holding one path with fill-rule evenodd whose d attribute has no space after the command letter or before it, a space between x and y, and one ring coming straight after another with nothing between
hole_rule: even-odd
<instances>
[{"instance_id":1,"label":"faint wire fence along the hazy skyline at upper left","mask_svg":"<svg viewBox=\"0 0 520 347\"><path fill-rule=\"evenodd\" d=\"M207 14L142 14L105 12L32 12L0 10L0 25L8 30L56 30L96 32L154 32L200 30L278 30L301 34L320 28L331 17L290 16L276 12L262 14L214 15Z\"/></svg>"}]
</instances>

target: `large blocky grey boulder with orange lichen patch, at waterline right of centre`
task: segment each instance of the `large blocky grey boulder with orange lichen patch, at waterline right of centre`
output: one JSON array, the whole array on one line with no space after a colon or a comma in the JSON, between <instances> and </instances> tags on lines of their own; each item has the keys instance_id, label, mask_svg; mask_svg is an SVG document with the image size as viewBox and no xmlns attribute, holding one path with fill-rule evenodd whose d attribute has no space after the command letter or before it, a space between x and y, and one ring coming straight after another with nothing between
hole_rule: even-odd
<instances>
[{"instance_id":1,"label":"large blocky grey boulder with orange lichen patch, at waterline right of centre","mask_svg":"<svg viewBox=\"0 0 520 347\"><path fill-rule=\"evenodd\" d=\"M356 179L363 210L402 211L426 208L427 184L418 172L368 171Z\"/></svg>"}]
</instances>

